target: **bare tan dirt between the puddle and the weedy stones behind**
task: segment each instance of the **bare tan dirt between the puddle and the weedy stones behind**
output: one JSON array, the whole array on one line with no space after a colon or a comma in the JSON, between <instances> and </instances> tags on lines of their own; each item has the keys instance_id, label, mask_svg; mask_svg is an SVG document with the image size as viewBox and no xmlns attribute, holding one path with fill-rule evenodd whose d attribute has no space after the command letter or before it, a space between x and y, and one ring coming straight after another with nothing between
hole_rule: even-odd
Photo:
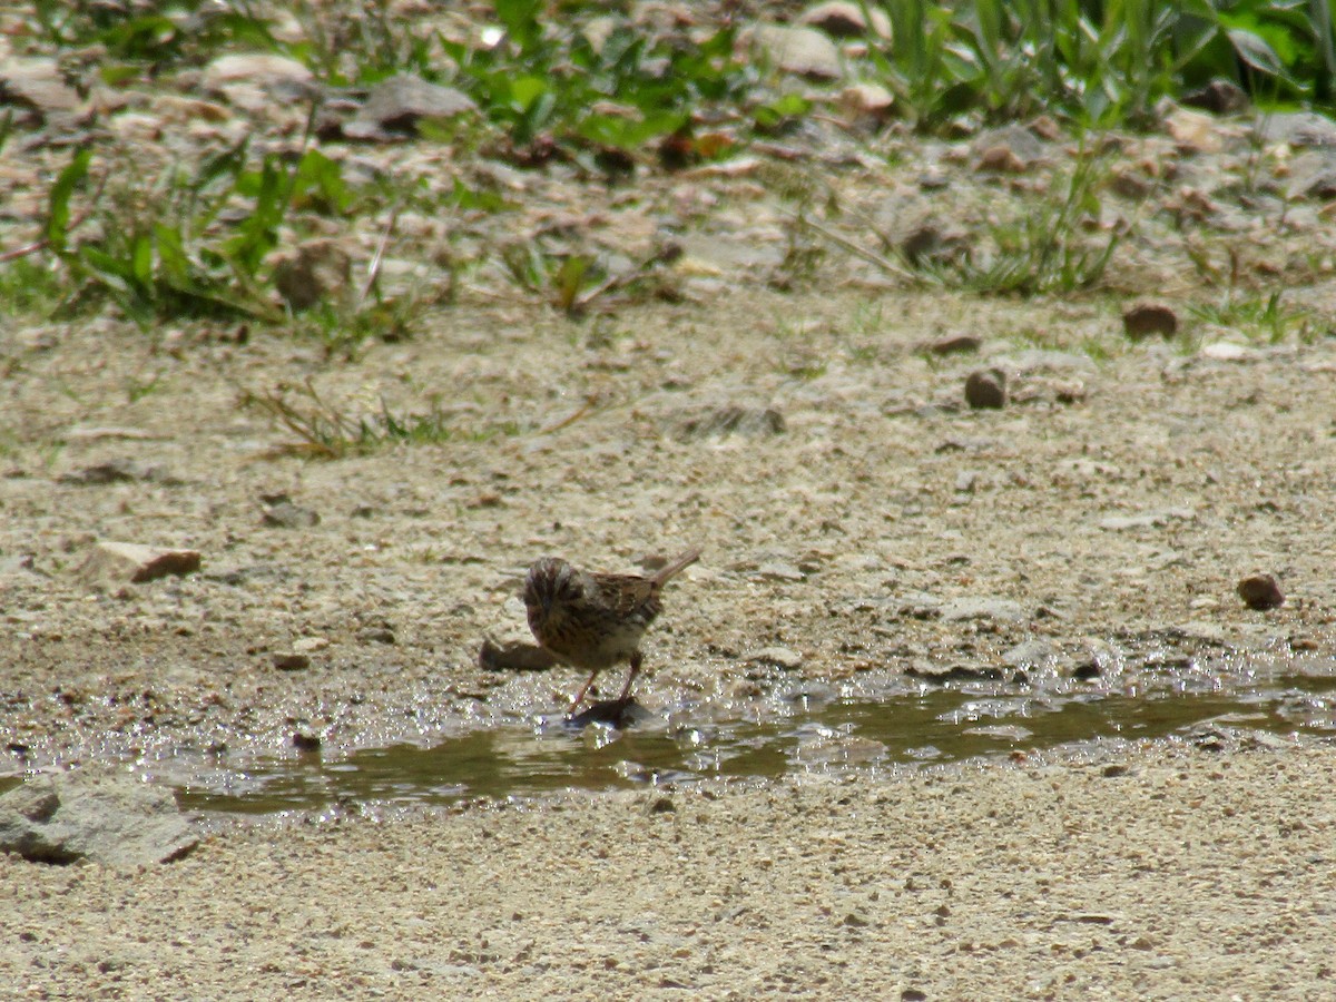
<instances>
[{"instance_id":1,"label":"bare tan dirt between the puddle and the weedy stones behind","mask_svg":"<svg viewBox=\"0 0 1336 1002\"><path fill-rule=\"evenodd\" d=\"M20 353L4 407L9 755L226 754L298 731L338 748L480 707L552 711L576 672L477 660L488 631L524 629L506 601L541 553L629 570L704 546L651 633L651 707L997 667L1037 641L1041 685L1090 664L1086 684L1126 687L1329 659L1331 342L1117 347L1117 309L1061 313L756 293L647 307L591 347L588 325L457 311L355 365L277 338L164 353L71 327L59 351ZM1015 335L1037 323L1050 347ZM981 334L981 355L914 350L954 330ZM1070 350L1090 337L1116 350ZM963 403L981 365L1009 373L1007 407ZM432 445L275 452L291 434L242 391L306 379L354 414L438 393L469 417ZM739 409L782 424L715 420ZM148 473L79 477L118 462ZM279 493L318 524L266 520ZM91 584L98 540L199 550L203 566ZM1277 577L1281 608L1238 599L1253 572ZM767 648L796 659L752 659Z\"/></svg>"}]
</instances>

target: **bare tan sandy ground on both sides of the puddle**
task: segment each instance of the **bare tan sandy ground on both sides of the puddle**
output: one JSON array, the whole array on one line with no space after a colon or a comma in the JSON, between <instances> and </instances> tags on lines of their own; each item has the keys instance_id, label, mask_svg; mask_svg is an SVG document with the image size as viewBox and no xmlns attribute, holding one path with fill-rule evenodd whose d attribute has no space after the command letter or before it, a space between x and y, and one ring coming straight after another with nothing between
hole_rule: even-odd
<instances>
[{"instance_id":1,"label":"bare tan sandy ground on both sides of the puddle","mask_svg":"<svg viewBox=\"0 0 1336 1002\"><path fill-rule=\"evenodd\" d=\"M852 334L870 305L880 323ZM489 631L522 632L514 593L548 552L633 570L704 546L637 687L688 720L906 669L970 684L1001 665L986 684L1092 696L1331 673L1332 345L1094 362L989 337L1015 315L763 293L647 307L601 349L518 311L355 365L266 338L170 354L123 330L32 349L5 405L31 432L0 529L11 775L240 770L294 735L337 756L560 713L577 672L478 664ZM941 327L985 335L1006 409L962 405L979 359L911 350ZM792 353L828 363L795 377ZM158 389L127 401L147 374ZM341 398L468 386L480 420L538 430L274 454L286 436L236 385L309 375ZM116 428L135 433L69 432ZM150 473L69 480L112 461ZM277 493L318 525L266 525ZM102 538L196 548L203 568L92 585L79 568ZM1240 601L1253 570L1283 584L1280 609ZM796 664L747 660L776 647ZM275 667L294 648L307 667ZM140 872L11 859L5 981L35 998L1324 994L1331 745L1129 762L705 787L648 814L661 794L243 824Z\"/></svg>"}]
</instances>

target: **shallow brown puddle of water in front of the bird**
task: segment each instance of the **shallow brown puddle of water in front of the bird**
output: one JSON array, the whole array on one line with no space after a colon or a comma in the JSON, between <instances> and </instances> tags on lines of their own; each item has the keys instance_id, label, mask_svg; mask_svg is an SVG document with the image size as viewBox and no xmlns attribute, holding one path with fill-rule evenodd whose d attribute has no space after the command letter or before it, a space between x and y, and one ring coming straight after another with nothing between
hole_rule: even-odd
<instances>
[{"instance_id":1,"label":"shallow brown puddle of water in front of the bird","mask_svg":"<svg viewBox=\"0 0 1336 1002\"><path fill-rule=\"evenodd\" d=\"M641 711L620 731L553 719L472 731L432 747L395 744L337 759L293 752L244 771L206 771L184 784L179 776L160 779L178 786L187 810L266 814L949 763L1189 735L1201 725L1332 736L1336 676L1273 679L1249 692L1043 696L945 688L824 704L799 699L786 715L755 721L699 723Z\"/></svg>"}]
</instances>

